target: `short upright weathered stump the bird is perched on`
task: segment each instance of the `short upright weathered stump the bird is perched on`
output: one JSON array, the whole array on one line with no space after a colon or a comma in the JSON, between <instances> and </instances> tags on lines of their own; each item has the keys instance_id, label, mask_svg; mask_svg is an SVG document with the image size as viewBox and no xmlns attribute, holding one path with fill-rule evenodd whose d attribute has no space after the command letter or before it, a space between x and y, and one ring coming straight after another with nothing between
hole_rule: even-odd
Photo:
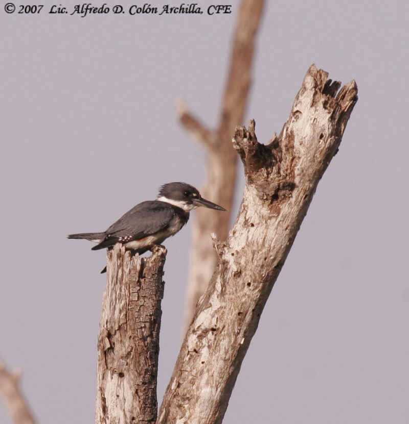
<instances>
[{"instance_id":1,"label":"short upright weathered stump the bird is perched on","mask_svg":"<svg viewBox=\"0 0 409 424\"><path fill-rule=\"evenodd\" d=\"M107 253L107 286L98 334L96 424L155 422L156 378L166 249Z\"/></svg>"}]
</instances>

